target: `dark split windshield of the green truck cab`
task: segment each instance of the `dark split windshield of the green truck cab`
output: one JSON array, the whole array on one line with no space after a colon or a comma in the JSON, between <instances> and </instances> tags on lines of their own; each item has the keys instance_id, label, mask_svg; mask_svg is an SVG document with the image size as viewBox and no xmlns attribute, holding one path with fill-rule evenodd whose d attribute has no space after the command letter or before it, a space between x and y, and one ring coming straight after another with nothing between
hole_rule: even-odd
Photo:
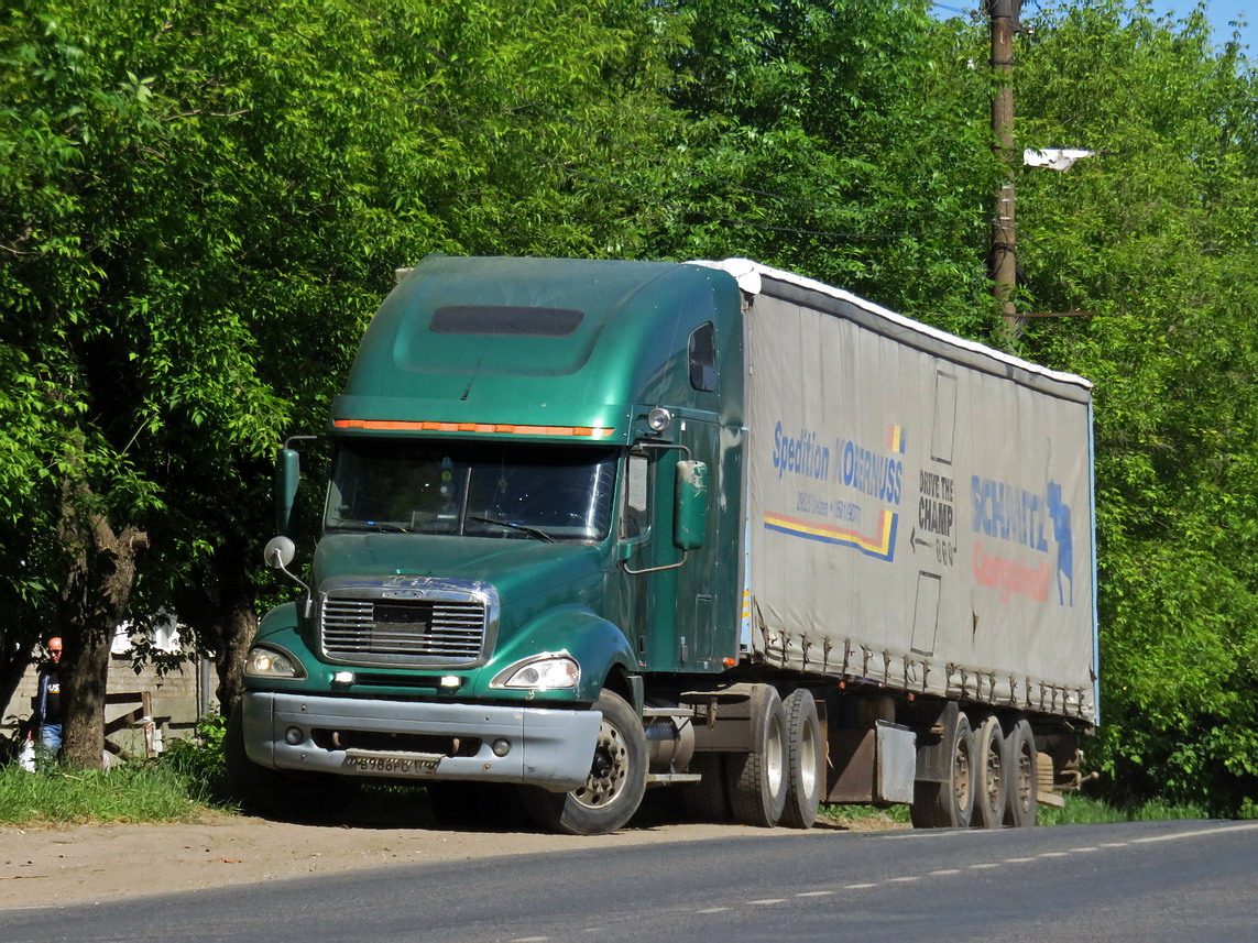
<instances>
[{"instance_id":1,"label":"dark split windshield of the green truck cab","mask_svg":"<svg viewBox=\"0 0 1258 943\"><path fill-rule=\"evenodd\" d=\"M608 449L342 439L323 527L599 541L615 469Z\"/></svg>"}]
</instances>

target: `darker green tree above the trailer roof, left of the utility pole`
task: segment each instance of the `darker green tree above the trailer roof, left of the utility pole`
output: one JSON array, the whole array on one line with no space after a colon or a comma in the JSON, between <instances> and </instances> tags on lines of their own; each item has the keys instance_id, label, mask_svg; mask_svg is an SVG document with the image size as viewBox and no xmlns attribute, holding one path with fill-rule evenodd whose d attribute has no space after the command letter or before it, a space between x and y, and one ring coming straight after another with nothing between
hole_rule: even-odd
<instances>
[{"instance_id":1,"label":"darker green tree above the trailer roof, left of the utility pole","mask_svg":"<svg viewBox=\"0 0 1258 943\"><path fill-rule=\"evenodd\" d=\"M971 334L995 326L982 259L998 166L974 29L916 0L674 9L689 43L672 97L693 156L660 251L749 255Z\"/></svg>"}]
</instances>

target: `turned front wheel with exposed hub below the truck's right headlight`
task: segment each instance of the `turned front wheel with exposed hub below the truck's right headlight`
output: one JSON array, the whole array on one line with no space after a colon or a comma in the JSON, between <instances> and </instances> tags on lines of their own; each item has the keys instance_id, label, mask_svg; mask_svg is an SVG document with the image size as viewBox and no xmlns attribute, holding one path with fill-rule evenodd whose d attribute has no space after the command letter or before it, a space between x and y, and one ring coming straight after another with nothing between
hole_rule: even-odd
<instances>
[{"instance_id":1,"label":"turned front wheel with exposed hub below the truck's right headlight","mask_svg":"<svg viewBox=\"0 0 1258 943\"><path fill-rule=\"evenodd\" d=\"M528 816L543 829L567 835L606 835L642 805L647 791L647 734L628 702L603 690L594 702L603 713L590 776L571 792L526 786L520 797Z\"/></svg>"}]
</instances>

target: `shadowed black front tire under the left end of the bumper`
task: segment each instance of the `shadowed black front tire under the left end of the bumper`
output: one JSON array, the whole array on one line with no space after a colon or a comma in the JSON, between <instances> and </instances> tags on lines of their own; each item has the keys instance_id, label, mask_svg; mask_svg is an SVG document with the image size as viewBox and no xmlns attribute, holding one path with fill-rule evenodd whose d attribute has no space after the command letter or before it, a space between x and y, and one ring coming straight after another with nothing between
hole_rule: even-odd
<instances>
[{"instance_id":1,"label":"shadowed black front tire under the left end of the bumper","mask_svg":"<svg viewBox=\"0 0 1258 943\"><path fill-rule=\"evenodd\" d=\"M359 783L330 773L297 769L268 769L258 766L244 749L244 720L240 705L231 709L223 738L231 795L272 819L316 822L336 819L359 793Z\"/></svg>"}]
</instances>

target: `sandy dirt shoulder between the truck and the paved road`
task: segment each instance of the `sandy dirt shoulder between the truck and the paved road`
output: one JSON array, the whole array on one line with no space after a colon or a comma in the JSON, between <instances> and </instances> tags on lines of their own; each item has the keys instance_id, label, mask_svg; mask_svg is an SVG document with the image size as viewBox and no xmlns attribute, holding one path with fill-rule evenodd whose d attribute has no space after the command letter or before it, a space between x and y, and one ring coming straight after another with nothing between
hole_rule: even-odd
<instances>
[{"instance_id":1,"label":"sandy dirt shoulder between the truck and the paved road","mask_svg":"<svg viewBox=\"0 0 1258 943\"><path fill-rule=\"evenodd\" d=\"M842 830L871 827L894 826L873 822ZM791 832L662 822L630 826L615 835L574 837L362 824L293 825L230 815L174 825L5 826L0 827L0 910L99 903L401 863L770 834Z\"/></svg>"}]
</instances>

